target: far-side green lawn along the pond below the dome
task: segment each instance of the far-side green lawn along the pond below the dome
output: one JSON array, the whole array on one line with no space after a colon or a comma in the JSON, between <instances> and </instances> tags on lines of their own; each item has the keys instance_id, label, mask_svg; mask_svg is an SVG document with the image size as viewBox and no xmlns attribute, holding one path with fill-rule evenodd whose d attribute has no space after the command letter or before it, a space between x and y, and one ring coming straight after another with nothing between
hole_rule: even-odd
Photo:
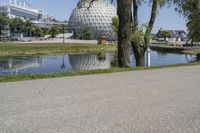
<instances>
[{"instance_id":1,"label":"far-side green lawn along the pond below the dome","mask_svg":"<svg viewBox=\"0 0 200 133\"><path fill-rule=\"evenodd\" d=\"M66 52L114 51L115 45L95 44L0 44L0 56L36 55Z\"/></svg>"}]
</instances>

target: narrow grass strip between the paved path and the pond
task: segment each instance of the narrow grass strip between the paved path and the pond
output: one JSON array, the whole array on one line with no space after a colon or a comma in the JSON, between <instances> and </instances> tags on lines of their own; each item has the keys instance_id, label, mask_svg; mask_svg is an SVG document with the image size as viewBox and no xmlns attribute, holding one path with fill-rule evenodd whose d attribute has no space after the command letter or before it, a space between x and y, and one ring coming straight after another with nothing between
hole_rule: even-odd
<instances>
[{"instance_id":1,"label":"narrow grass strip between the paved path and the pond","mask_svg":"<svg viewBox=\"0 0 200 133\"><path fill-rule=\"evenodd\" d=\"M92 71L80 71L80 72L64 72L64 73L49 73L49 74L0 75L0 82L14 82L14 81L22 81L22 80L81 76L81 75L92 75L92 74L106 74L106 73L127 72L127 71L136 71L136 70L151 70L151 69L160 69L160 68L194 66L194 65L200 65L200 62L189 63L189 64L156 66L156 67L111 68L111 69L105 69L105 70L92 70Z\"/></svg>"}]
</instances>

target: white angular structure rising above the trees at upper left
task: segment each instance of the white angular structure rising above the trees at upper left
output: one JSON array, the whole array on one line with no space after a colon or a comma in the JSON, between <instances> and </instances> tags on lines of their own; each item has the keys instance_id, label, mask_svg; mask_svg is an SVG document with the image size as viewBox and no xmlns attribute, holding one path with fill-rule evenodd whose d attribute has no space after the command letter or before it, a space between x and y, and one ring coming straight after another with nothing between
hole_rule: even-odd
<instances>
[{"instance_id":1,"label":"white angular structure rising above the trees at upper left","mask_svg":"<svg viewBox=\"0 0 200 133\"><path fill-rule=\"evenodd\" d=\"M52 16L44 14L43 10L33 7L26 0L5 0L0 3L0 14L10 18L31 20L34 24L44 24L55 20ZM14 39L23 38L22 33L9 33Z\"/></svg>"}]
</instances>

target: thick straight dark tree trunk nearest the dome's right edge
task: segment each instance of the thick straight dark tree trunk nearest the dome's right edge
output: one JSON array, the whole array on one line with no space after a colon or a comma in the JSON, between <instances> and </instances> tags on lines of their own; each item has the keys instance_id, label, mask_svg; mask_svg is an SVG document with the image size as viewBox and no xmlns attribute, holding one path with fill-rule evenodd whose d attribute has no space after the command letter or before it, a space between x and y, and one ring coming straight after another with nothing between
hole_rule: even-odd
<instances>
[{"instance_id":1,"label":"thick straight dark tree trunk nearest the dome's right edge","mask_svg":"<svg viewBox=\"0 0 200 133\"><path fill-rule=\"evenodd\" d=\"M130 66L131 2L132 0L117 0L119 67Z\"/></svg>"}]
</instances>

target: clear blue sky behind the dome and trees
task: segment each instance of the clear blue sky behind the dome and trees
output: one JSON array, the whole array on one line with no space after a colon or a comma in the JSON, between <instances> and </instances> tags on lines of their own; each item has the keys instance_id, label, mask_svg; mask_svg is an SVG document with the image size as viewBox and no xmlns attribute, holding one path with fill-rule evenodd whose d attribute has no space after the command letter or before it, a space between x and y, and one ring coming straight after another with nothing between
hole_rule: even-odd
<instances>
[{"instance_id":1,"label":"clear blue sky behind the dome and trees","mask_svg":"<svg viewBox=\"0 0 200 133\"><path fill-rule=\"evenodd\" d=\"M45 13L54 16L58 20L68 20L70 14L79 0L27 0L33 6L41 8ZM144 5L140 7L140 22L146 23L150 16L150 7ZM160 9L156 19L154 32L163 29L184 29L185 20L180 14L174 11L174 7L164 7Z\"/></svg>"}]
</instances>

